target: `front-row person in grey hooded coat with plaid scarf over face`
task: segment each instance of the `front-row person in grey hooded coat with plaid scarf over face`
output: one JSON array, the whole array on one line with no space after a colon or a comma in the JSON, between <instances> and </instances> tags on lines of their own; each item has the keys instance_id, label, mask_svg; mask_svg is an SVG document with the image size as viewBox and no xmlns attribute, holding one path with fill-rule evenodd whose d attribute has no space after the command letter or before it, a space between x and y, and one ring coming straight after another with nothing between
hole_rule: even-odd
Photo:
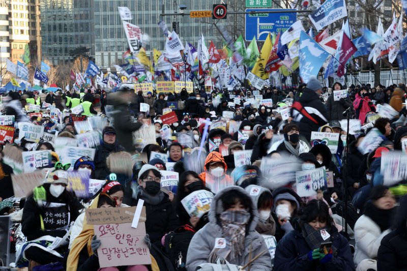
<instances>
[{"instance_id":1,"label":"front-row person in grey hooded coat with plaid scarf over face","mask_svg":"<svg viewBox=\"0 0 407 271\"><path fill-rule=\"evenodd\" d=\"M249 193L237 186L221 190L212 201L209 223L192 237L187 270L196 270L205 263L216 263L218 259L243 266L255 257L250 270L271 270L266 243L255 231L257 222L257 208ZM215 241L219 239L226 245L217 246Z\"/></svg>"}]
</instances>

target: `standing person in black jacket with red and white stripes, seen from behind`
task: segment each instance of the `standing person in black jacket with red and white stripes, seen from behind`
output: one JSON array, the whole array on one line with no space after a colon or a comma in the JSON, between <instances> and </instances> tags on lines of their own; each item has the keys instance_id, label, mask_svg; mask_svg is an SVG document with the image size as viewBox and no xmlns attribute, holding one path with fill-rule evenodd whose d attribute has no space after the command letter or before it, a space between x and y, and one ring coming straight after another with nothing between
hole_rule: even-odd
<instances>
[{"instance_id":1,"label":"standing person in black jacket with red and white stripes, seen from behind","mask_svg":"<svg viewBox=\"0 0 407 271\"><path fill-rule=\"evenodd\" d=\"M311 140L311 132L328 123L328 114L325 105L319 100L322 94L321 83L315 78L302 89L302 95L293 103L293 123L297 124L301 135L307 141Z\"/></svg>"}]
</instances>

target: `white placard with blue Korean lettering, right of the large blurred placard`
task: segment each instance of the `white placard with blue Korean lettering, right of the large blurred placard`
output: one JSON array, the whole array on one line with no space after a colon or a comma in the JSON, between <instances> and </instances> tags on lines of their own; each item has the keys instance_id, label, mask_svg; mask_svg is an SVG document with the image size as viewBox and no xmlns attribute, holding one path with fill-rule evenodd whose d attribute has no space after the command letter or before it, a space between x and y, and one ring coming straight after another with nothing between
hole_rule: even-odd
<instances>
[{"instance_id":1,"label":"white placard with blue Korean lettering, right of the large blurred placard","mask_svg":"<svg viewBox=\"0 0 407 271\"><path fill-rule=\"evenodd\" d=\"M324 190L326 187L327 174L322 167L296 173L296 189L300 197L316 195L317 190Z\"/></svg>"}]
</instances>

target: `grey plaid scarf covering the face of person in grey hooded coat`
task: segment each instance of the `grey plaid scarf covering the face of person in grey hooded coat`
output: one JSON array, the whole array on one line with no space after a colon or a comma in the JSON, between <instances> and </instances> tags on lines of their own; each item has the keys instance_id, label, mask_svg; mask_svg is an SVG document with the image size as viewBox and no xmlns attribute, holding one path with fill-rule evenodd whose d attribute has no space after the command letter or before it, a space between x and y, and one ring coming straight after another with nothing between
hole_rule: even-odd
<instances>
[{"instance_id":1,"label":"grey plaid scarf covering the face of person in grey hooded coat","mask_svg":"<svg viewBox=\"0 0 407 271\"><path fill-rule=\"evenodd\" d=\"M226 248L214 248L209 255L209 262L216 263L217 258L234 261L242 256L245 245L246 225L250 214L246 210L225 211L220 214L222 237L226 239Z\"/></svg>"}]
</instances>

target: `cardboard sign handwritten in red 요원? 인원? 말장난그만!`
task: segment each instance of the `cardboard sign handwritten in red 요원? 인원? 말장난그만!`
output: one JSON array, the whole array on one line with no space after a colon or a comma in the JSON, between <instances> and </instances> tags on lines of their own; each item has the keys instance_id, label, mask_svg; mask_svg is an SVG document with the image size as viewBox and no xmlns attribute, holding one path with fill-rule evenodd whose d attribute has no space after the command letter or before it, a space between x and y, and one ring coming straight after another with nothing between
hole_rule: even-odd
<instances>
[{"instance_id":1,"label":"cardboard sign handwritten in red \uc694\uc6d0? \uc778\uc6d0? \ub9d0\uc7a5\ub09c\uadf8\ub9cc!","mask_svg":"<svg viewBox=\"0 0 407 271\"><path fill-rule=\"evenodd\" d=\"M146 208L142 207L137 228L131 224L136 207L86 209L86 222L94 225L101 240L99 265L103 267L151 264L146 236Z\"/></svg>"}]
</instances>

